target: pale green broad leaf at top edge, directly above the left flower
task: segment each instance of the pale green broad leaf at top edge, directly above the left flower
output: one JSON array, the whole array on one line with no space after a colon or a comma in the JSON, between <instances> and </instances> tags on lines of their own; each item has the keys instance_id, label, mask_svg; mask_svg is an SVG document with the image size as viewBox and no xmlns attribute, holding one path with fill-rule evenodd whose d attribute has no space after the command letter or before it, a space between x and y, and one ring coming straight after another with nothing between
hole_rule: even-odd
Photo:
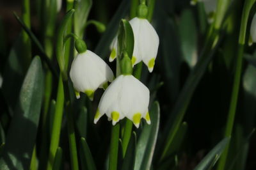
<instances>
[{"instance_id":1,"label":"pale green broad leaf at top edge, directly above the left flower","mask_svg":"<svg viewBox=\"0 0 256 170\"><path fill-rule=\"evenodd\" d=\"M76 6L76 13L74 13L74 31L79 38L83 38L88 14L92 8L92 0L77 1Z\"/></svg>"}]
</instances>

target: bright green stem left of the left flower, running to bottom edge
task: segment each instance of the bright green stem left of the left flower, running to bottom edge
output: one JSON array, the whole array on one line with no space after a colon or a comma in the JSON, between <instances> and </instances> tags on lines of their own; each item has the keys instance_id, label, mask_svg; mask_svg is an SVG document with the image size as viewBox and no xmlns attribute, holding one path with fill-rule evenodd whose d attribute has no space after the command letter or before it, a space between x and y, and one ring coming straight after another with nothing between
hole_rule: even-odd
<instances>
[{"instance_id":1,"label":"bright green stem left of the left flower, running to bottom edge","mask_svg":"<svg viewBox=\"0 0 256 170\"><path fill-rule=\"evenodd\" d=\"M63 89L62 77L60 75L60 79L58 82L56 109L55 109L53 125L52 125L52 135L51 135L51 144L50 144L50 152L49 152L49 158L48 158L48 163L47 163L47 170L52 169L52 164L54 161L56 150L57 150L59 142L60 142L61 122L62 122L62 116L63 116L63 105L64 105L64 89Z\"/></svg>"}]
</instances>

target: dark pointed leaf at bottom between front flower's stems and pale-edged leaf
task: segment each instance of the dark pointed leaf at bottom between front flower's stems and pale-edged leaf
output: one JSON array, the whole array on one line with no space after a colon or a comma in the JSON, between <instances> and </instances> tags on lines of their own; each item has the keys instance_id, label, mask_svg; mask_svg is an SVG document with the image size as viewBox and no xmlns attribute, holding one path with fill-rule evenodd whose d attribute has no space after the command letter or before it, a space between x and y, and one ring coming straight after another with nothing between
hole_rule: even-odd
<instances>
[{"instance_id":1,"label":"dark pointed leaf at bottom between front flower's stems and pale-edged leaf","mask_svg":"<svg viewBox=\"0 0 256 170\"><path fill-rule=\"evenodd\" d=\"M122 170L134 169L135 164L135 151L136 151L136 133L133 132L125 153Z\"/></svg>"}]
</instances>

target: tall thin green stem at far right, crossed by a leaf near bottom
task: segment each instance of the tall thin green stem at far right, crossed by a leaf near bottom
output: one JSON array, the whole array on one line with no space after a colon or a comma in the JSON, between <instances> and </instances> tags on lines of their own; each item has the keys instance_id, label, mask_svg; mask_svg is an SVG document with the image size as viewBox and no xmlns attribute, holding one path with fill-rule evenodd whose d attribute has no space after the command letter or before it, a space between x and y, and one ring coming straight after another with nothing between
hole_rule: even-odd
<instances>
[{"instance_id":1,"label":"tall thin green stem at far right, crossed by a leaf near bottom","mask_svg":"<svg viewBox=\"0 0 256 170\"><path fill-rule=\"evenodd\" d=\"M240 27L240 33L239 33L239 47L237 50L237 60L236 60L236 72L234 77L234 84L232 88L232 96L230 101L230 107L228 111L228 118L227 118L227 127L225 128L225 137L230 137L232 135L232 129L234 127L234 120L236 116L236 106L237 106L237 98L239 94L239 85L241 80L241 71L242 71L242 65L243 65L243 52L244 52L244 43L246 42L246 28L248 24L248 17L250 14L250 10L255 3L255 0L246 0L244 2L244 8L243 8L243 15L241 20L241 27ZM225 165L227 162L227 156L228 156L228 149L229 149L229 143L227 144L227 147L223 151L220 162L218 164L218 170L225 169Z\"/></svg>"}]
</instances>

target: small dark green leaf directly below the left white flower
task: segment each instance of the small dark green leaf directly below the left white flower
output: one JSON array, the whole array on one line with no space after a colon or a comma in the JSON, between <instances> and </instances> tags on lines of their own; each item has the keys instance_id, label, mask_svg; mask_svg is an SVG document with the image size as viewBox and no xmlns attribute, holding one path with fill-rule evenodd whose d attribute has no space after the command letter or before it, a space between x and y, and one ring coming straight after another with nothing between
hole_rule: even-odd
<instances>
[{"instance_id":1,"label":"small dark green leaf directly below the left white flower","mask_svg":"<svg viewBox=\"0 0 256 170\"><path fill-rule=\"evenodd\" d=\"M88 112L86 107L82 107L81 111L79 111L79 114L76 118L76 127L79 132L79 135L81 137L86 138L86 132L87 132L87 119L88 119Z\"/></svg>"}]
</instances>

